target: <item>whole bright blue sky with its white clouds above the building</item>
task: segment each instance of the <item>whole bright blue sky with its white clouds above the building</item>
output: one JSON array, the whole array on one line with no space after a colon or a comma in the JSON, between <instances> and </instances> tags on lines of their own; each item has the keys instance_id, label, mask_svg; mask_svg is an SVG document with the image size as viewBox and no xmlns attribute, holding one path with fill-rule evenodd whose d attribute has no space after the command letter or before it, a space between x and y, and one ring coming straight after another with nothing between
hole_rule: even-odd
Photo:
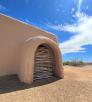
<instances>
[{"instance_id":1,"label":"whole bright blue sky with its white clouds above the building","mask_svg":"<svg viewBox=\"0 0 92 102\"><path fill-rule=\"evenodd\" d=\"M92 62L92 0L0 0L0 12L54 33L63 61Z\"/></svg>"}]
</instances>

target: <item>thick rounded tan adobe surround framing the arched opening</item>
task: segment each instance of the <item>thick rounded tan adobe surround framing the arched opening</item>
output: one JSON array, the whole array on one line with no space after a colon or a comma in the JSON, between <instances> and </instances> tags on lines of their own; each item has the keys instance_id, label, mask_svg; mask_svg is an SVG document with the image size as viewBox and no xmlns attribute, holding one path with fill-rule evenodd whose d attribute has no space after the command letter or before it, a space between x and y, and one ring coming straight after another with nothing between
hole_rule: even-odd
<instances>
[{"instance_id":1,"label":"thick rounded tan adobe surround framing the arched opening","mask_svg":"<svg viewBox=\"0 0 92 102\"><path fill-rule=\"evenodd\" d=\"M54 52L56 61L56 67L54 71L55 75L63 78L61 54L57 43L47 37L36 36L26 41L22 49L20 71L18 73L19 78L22 82L32 83L35 52L38 46L44 43L50 46Z\"/></svg>"}]
</instances>

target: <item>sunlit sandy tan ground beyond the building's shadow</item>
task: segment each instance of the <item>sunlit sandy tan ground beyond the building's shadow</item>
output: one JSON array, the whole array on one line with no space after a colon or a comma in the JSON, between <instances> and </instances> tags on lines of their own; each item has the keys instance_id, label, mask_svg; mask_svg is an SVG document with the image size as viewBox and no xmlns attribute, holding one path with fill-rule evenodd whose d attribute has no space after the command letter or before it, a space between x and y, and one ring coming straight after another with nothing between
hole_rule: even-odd
<instances>
[{"instance_id":1,"label":"sunlit sandy tan ground beyond the building's shadow","mask_svg":"<svg viewBox=\"0 0 92 102\"><path fill-rule=\"evenodd\" d=\"M92 102L92 66L64 66L64 72L64 79L1 93L0 102Z\"/></svg>"}]
</instances>

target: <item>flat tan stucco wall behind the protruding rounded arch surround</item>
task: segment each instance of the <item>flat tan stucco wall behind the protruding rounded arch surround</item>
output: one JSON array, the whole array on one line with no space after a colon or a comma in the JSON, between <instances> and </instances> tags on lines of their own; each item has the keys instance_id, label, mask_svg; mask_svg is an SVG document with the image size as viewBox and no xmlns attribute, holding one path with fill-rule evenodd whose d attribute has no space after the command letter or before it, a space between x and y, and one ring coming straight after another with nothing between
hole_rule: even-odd
<instances>
[{"instance_id":1,"label":"flat tan stucco wall behind the protruding rounded arch surround","mask_svg":"<svg viewBox=\"0 0 92 102\"><path fill-rule=\"evenodd\" d=\"M23 46L37 36L49 38L58 44L56 37L49 32L0 14L0 76L19 74L20 63L23 63L21 62ZM33 43L30 43L31 48L32 46ZM32 53L34 53L34 50L32 52L31 49L31 55L29 54L31 59L33 58ZM31 66L33 67L33 64Z\"/></svg>"}]
</instances>

